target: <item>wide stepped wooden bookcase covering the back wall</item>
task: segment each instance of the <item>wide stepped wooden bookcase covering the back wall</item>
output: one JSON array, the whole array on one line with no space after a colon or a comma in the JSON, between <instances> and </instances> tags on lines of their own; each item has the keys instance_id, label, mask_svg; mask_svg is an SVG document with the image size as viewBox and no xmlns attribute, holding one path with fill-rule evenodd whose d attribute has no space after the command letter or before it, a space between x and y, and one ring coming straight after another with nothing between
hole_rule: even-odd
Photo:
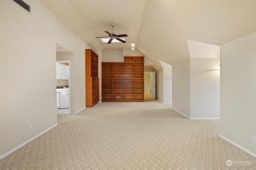
<instances>
[{"instance_id":1,"label":"wide stepped wooden bookcase covering the back wall","mask_svg":"<svg viewBox=\"0 0 256 170\"><path fill-rule=\"evenodd\" d=\"M102 102L144 102L144 56L102 62Z\"/></svg>"}]
</instances>

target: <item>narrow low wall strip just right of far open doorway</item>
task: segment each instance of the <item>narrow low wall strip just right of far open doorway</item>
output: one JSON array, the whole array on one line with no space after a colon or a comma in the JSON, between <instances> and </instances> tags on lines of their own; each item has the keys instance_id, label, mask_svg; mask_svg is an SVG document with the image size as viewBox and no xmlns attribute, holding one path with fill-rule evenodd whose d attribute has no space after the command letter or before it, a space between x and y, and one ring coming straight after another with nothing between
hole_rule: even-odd
<instances>
[{"instance_id":1,"label":"narrow low wall strip just right of far open doorway","mask_svg":"<svg viewBox=\"0 0 256 170\"><path fill-rule=\"evenodd\" d=\"M160 102L164 100L164 70L156 71L156 99Z\"/></svg>"}]
</instances>

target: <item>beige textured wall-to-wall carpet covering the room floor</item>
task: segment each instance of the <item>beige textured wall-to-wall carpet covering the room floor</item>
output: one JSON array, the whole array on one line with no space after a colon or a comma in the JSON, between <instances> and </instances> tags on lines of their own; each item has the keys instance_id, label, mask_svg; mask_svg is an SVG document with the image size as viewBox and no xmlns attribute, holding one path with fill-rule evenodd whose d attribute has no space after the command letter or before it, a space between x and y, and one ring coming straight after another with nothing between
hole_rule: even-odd
<instances>
[{"instance_id":1,"label":"beige textured wall-to-wall carpet covering the room floor","mask_svg":"<svg viewBox=\"0 0 256 170\"><path fill-rule=\"evenodd\" d=\"M256 169L256 158L218 137L219 120L189 120L169 107L100 103L58 114L57 127L2 159L0 169Z\"/></svg>"}]
</instances>

